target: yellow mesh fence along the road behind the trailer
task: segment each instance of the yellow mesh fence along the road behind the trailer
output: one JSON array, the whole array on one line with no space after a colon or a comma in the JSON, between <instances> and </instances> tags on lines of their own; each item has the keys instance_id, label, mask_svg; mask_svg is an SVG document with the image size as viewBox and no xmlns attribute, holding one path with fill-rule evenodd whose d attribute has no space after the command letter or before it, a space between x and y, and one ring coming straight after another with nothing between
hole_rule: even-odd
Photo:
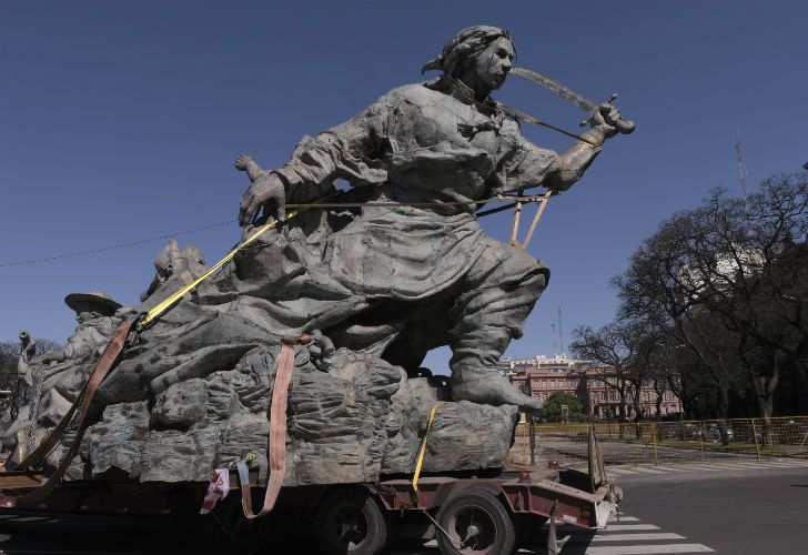
<instances>
[{"instance_id":1,"label":"yellow mesh fence along the road behind the trailer","mask_svg":"<svg viewBox=\"0 0 808 555\"><path fill-rule=\"evenodd\" d=\"M521 422L514 464L576 466L586 462L589 424ZM808 416L706 421L595 423L606 465L808 458Z\"/></svg>"}]
</instances>

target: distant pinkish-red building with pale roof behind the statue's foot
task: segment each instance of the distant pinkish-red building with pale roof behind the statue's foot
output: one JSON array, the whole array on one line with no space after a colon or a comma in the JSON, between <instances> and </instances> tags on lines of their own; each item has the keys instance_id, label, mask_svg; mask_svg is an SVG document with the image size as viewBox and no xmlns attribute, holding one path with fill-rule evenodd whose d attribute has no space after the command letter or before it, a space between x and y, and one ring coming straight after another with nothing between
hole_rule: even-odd
<instances>
[{"instance_id":1,"label":"distant pinkish-red building with pale roof behind the statue's foot","mask_svg":"<svg viewBox=\"0 0 808 555\"><path fill-rule=\"evenodd\" d=\"M616 418L619 415L619 396L617 390L608 384L616 384L610 377L608 367L592 367L586 361L567 359L563 355L547 357L537 355L533 359L502 359L499 371L517 387L529 392L529 395L546 401L556 392L565 392L578 397L580 404L588 406L588 413L595 420ZM649 382L643 384L639 392L639 406L643 416L656 416L657 393ZM681 402L670 391L663 392L659 406L660 414L681 412ZM634 395L626 395L626 417L635 418Z\"/></svg>"}]
</instances>

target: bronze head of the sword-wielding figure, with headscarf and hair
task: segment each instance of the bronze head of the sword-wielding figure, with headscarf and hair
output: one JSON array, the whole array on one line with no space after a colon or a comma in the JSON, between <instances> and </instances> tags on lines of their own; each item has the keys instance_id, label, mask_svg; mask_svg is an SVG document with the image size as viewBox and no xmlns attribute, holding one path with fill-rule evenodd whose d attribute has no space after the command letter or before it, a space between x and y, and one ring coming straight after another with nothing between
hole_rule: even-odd
<instances>
[{"instance_id":1,"label":"bronze head of the sword-wielding figure, with headscarf and hair","mask_svg":"<svg viewBox=\"0 0 808 555\"><path fill-rule=\"evenodd\" d=\"M445 77L462 79L472 88L481 82L488 90L496 90L505 82L514 56L516 49L506 30L489 26L466 27L448 41L441 56L422 68L422 72L442 70Z\"/></svg>"}]
</instances>

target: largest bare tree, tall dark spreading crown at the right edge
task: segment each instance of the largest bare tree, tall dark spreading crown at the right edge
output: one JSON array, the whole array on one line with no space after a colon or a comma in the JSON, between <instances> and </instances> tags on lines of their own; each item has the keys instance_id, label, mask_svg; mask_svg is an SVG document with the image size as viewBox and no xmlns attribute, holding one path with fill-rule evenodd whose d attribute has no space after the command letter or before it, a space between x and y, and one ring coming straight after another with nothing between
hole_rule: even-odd
<instances>
[{"instance_id":1,"label":"largest bare tree, tall dark spreading crown at the right edge","mask_svg":"<svg viewBox=\"0 0 808 555\"><path fill-rule=\"evenodd\" d=\"M739 373L768 420L784 369L804 367L807 178L768 180L747 200L715 191L664 222L614 281L620 315L654 321L687 349L724 414Z\"/></svg>"}]
</instances>

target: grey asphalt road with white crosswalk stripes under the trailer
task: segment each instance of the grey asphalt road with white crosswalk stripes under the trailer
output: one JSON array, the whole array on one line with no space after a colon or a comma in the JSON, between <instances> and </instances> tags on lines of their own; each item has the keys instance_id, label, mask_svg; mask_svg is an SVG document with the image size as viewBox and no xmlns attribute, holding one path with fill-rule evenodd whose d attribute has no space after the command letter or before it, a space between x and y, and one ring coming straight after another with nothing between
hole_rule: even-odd
<instances>
[{"instance_id":1,"label":"grey asphalt road with white crosswalk stripes under the trailer","mask_svg":"<svg viewBox=\"0 0 808 555\"><path fill-rule=\"evenodd\" d=\"M624 472L618 484L625 492L619 521L597 534L559 526L564 555L808 553L808 465L647 468ZM212 529L173 524L169 517L97 519L0 512L0 553L223 553ZM522 553L544 554L545 542L546 527L535 535L535 548ZM267 553L304 553L299 547ZM428 544L398 545L390 553L440 555Z\"/></svg>"}]
</instances>

